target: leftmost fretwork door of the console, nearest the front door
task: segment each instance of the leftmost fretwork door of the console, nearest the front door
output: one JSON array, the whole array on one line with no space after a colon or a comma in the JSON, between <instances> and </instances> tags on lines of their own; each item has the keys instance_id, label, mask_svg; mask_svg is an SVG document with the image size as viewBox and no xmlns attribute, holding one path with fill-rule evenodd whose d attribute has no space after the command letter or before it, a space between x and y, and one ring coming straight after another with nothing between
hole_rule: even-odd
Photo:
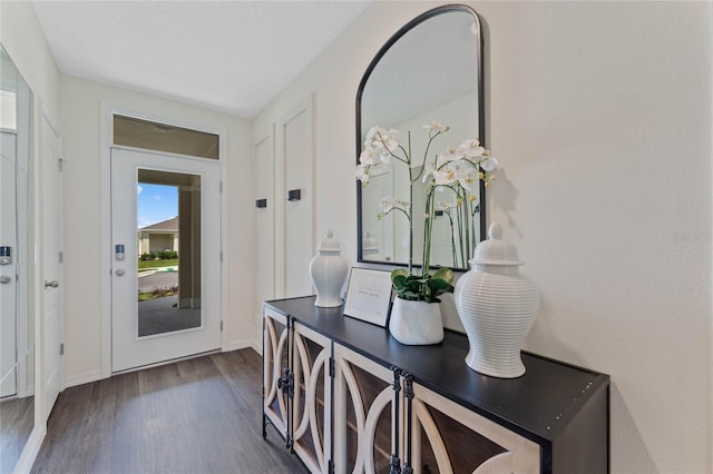
<instances>
[{"instance_id":1,"label":"leftmost fretwork door of the console, nearest the front door","mask_svg":"<svg viewBox=\"0 0 713 474\"><path fill-rule=\"evenodd\" d=\"M287 318L263 309L263 411L285 438L290 436L289 397L283 377L290 373L290 330Z\"/></svg>"}]
</instances>

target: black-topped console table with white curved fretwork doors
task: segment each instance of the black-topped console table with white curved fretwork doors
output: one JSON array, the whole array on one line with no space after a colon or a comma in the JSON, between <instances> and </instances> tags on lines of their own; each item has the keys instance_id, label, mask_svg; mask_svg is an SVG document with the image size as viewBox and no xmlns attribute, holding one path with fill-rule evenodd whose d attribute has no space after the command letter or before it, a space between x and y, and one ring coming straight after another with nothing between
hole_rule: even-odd
<instances>
[{"instance_id":1,"label":"black-topped console table with white curved fretwork doors","mask_svg":"<svg viewBox=\"0 0 713 474\"><path fill-rule=\"evenodd\" d=\"M319 308L263 307L263 436L314 473L607 473L609 377L522 353L518 378L465 363L466 336L404 346Z\"/></svg>"}]
</instances>

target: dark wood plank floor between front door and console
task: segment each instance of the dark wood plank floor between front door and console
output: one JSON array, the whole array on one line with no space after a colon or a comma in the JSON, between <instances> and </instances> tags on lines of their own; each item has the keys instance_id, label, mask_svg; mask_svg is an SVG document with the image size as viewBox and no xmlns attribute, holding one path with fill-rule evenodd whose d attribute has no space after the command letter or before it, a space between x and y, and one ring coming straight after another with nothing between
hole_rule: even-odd
<instances>
[{"instance_id":1,"label":"dark wood plank floor between front door and console","mask_svg":"<svg viewBox=\"0 0 713 474\"><path fill-rule=\"evenodd\" d=\"M253 349L62 392L33 473L305 473L274 427L262 436Z\"/></svg>"}]
</instances>

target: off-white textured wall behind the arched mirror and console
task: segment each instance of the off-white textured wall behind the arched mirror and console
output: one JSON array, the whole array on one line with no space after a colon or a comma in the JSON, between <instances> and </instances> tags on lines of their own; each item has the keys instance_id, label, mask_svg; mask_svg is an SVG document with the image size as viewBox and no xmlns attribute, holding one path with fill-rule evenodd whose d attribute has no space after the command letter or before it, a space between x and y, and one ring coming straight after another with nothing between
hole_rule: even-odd
<instances>
[{"instance_id":1,"label":"off-white textured wall behind the arched mirror and console","mask_svg":"<svg viewBox=\"0 0 713 474\"><path fill-rule=\"evenodd\" d=\"M614 473L713 472L711 3L469 4L502 167L489 220L541 292L526 348L612 376ZM374 2L253 122L316 92L316 234L352 263L356 87L431 6Z\"/></svg>"}]
</instances>

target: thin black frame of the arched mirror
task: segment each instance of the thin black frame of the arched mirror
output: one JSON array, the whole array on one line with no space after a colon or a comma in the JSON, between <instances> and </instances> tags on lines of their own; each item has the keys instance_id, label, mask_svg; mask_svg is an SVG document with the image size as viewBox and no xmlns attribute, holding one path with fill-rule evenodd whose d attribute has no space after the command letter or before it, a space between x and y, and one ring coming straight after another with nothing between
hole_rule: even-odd
<instances>
[{"instance_id":1,"label":"thin black frame of the arched mirror","mask_svg":"<svg viewBox=\"0 0 713 474\"><path fill-rule=\"evenodd\" d=\"M480 140L480 144L487 148L486 146L486 102L485 102L485 61L484 61L484 57L482 57L482 52L484 52L484 34L482 34L482 24L481 24L481 19L480 16L478 14L478 12L476 10L473 10L472 8L466 6L466 4L459 4L459 3L450 3L450 4L445 4L441 7L436 7L431 10L428 10L421 14L419 14L418 17L416 17L414 19L412 19L411 21L409 21L408 23L406 23L403 27L401 27L391 38L389 38L389 40L381 47L381 49L379 49L379 51L377 52L377 55L374 56L374 58L371 60L371 62L369 63L369 67L367 68L367 71L364 72L364 75L361 78L361 81L359 82L359 88L356 89L356 165L359 165L359 156L361 155L361 148L362 148L362 136L361 136L361 100L362 100L362 95L364 92L364 87L367 86L367 82L369 81L369 78L371 77L371 73L373 72L374 68L377 67L377 65L379 63L379 61L381 61L381 59L383 58L383 56L389 51L389 49L391 49L391 47L399 41L404 34L407 34L409 31L411 31L413 28L416 28L417 26L421 24L422 22L437 17L439 14L443 14L443 13L449 13L449 12L466 12L472 16L472 19L475 21L476 24L476 51L478 55L477 58L477 78L478 78L478 85L477 85L477 97L478 97L478 139ZM486 225L486 186L485 182L482 181L482 179L479 179L479 199L480 199L480 240L482 241L486 238L486 229L487 229L487 225ZM369 259L364 259L364 255L363 255L363 249L362 249L362 244L363 244L363 224L362 224L362 205L361 205L361 198L362 198L362 191L361 191L361 181L356 180L356 261L359 263L365 263L365 264L378 264L378 265L387 265L387 266L399 266L399 267L406 267L408 266L408 264L406 263L393 263L393 261L383 261L383 260L369 260ZM413 265L414 267L420 267L421 265ZM438 268L438 265L431 265L431 267L433 268ZM453 270L461 270L461 271L466 271L468 270L468 268L461 268L461 267L452 267Z\"/></svg>"}]
</instances>

